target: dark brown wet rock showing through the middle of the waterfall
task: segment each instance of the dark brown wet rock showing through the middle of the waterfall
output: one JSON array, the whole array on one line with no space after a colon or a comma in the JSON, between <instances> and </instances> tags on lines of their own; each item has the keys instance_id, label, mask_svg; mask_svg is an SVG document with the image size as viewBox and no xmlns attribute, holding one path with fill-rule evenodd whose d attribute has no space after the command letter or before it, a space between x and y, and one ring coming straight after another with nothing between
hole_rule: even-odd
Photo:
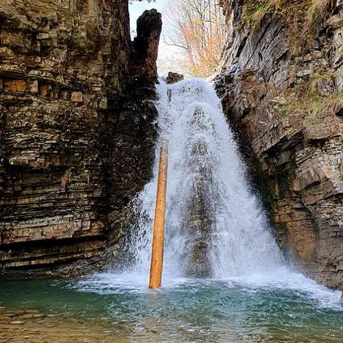
<instances>
[{"instance_id":1,"label":"dark brown wet rock showing through the middle of the waterfall","mask_svg":"<svg viewBox=\"0 0 343 343\"><path fill-rule=\"evenodd\" d=\"M198 134L209 125L204 123L204 113L194 110L190 119L194 137L189 137L189 155L185 168L192 175L187 201L180 216L182 231L186 233L187 246L183 261L185 274L190 277L212 277L213 254L211 253L215 226L215 191L213 159L206 141Z\"/></svg>"}]
</instances>

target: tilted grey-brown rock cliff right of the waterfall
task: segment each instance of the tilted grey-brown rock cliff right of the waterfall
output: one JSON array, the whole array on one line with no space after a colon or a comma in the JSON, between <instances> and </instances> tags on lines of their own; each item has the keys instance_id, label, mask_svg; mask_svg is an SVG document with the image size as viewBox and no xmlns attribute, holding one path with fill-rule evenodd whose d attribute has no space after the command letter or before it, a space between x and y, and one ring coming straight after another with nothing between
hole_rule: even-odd
<instances>
[{"instance_id":1,"label":"tilted grey-brown rock cliff right of the waterfall","mask_svg":"<svg viewBox=\"0 0 343 343\"><path fill-rule=\"evenodd\" d=\"M217 93L281 246L320 283L342 287L342 1L323 1L316 25L269 14L252 29L245 2L222 1L229 32Z\"/></svg>"}]
</instances>

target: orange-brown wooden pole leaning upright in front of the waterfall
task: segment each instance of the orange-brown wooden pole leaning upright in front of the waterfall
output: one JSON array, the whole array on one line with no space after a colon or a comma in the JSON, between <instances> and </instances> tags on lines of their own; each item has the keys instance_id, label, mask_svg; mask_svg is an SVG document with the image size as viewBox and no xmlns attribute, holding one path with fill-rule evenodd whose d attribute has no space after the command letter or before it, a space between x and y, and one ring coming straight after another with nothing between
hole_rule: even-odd
<instances>
[{"instance_id":1,"label":"orange-brown wooden pole leaning upright in front of the waterfall","mask_svg":"<svg viewBox=\"0 0 343 343\"><path fill-rule=\"evenodd\" d=\"M167 196L168 148L163 142L158 169L154 235L152 240L152 259L149 288L159 288L162 282L163 248L165 241L165 200Z\"/></svg>"}]
</instances>

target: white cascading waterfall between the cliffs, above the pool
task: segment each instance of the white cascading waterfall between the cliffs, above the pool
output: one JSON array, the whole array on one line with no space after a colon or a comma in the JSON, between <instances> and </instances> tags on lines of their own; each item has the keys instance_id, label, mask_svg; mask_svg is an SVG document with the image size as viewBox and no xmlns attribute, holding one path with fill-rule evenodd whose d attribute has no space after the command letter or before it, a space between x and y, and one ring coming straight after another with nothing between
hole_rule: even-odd
<instances>
[{"instance_id":1,"label":"white cascading waterfall between the cliffs, above the pool","mask_svg":"<svg viewBox=\"0 0 343 343\"><path fill-rule=\"evenodd\" d=\"M169 145L164 272L182 276L199 258L216 277L283 265L211 84L197 79L161 84L158 95L160 137ZM158 152L159 143L157 157ZM157 168L158 161L154 179L133 202L137 224L130 250L142 274L150 268Z\"/></svg>"}]
</instances>

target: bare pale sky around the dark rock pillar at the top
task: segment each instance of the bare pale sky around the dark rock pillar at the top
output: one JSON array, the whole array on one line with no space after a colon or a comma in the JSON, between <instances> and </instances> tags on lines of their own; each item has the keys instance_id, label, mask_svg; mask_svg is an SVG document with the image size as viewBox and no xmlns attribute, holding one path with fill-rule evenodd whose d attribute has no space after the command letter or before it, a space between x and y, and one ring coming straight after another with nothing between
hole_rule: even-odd
<instances>
[{"instance_id":1,"label":"bare pale sky around the dark rock pillar at the top","mask_svg":"<svg viewBox=\"0 0 343 343\"><path fill-rule=\"evenodd\" d=\"M162 12L163 14L163 8L165 7L167 3L167 0L156 0L155 2L148 3L147 1L132 1L132 3L129 6L130 9L130 26L131 26L131 32L135 32L136 30L136 21L138 17L145 11L145 10L151 10L152 8L155 8L158 10L158 12ZM163 18L162 18L163 20ZM132 36L133 39L133 36ZM167 45L163 41L163 32L161 34L161 41L160 41L160 47L158 49L158 74L160 76L167 75L168 71L177 71L178 70L178 57L180 56L180 49L177 47L173 47L170 45Z\"/></svg>"}]
</instances>

